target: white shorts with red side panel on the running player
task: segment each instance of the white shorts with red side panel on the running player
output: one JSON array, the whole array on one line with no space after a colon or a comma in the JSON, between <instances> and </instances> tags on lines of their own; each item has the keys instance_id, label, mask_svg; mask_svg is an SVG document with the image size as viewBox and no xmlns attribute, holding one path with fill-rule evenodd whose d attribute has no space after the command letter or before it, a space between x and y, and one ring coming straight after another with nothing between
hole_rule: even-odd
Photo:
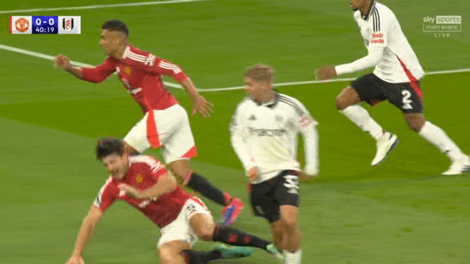
<instances>
[{"instance_id":1,"label":"white shorts with red side panel on the running player","mask_svg":"<svg viewBox=\"0 0 470 264\"><path fill-rule=\"evenodd\" d=\"M197 155L188 114L178 104L145 113L124 141L139 153L149 148L161 148L165 163Z\"/></svg>"}]
</instances>

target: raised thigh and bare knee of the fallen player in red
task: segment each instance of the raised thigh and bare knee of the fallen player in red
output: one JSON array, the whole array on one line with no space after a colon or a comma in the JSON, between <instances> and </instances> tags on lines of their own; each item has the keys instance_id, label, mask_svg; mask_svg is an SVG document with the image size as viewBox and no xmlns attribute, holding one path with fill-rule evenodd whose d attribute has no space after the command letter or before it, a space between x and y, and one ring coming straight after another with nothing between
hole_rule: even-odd
<instances>
[{"instance_id":1,"label":"raised thigh and bare knee of the fallen player in red","mask_svg":"<svg viewBox=\"0 0 470 264\"><path fill-rule=\"evenodd\" d=\"M186 219L191 232L204 241L210 241L214 234L214 220L211 212L201 199L189 199L185 207Z\"/></svg>"}]
</instances>

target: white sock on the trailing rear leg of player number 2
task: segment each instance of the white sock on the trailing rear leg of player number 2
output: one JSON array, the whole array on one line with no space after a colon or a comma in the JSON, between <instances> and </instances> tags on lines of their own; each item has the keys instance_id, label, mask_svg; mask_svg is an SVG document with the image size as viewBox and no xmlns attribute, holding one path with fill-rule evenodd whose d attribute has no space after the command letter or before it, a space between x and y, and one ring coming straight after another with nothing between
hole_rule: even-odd
<instances>
[{"instance_id":1,"label":"white sock on the trailing rear leg of player number 2","mask_svg":"<svg viewBox=\"0 0 470 264\"><path fill-rule=\"evenodd\" d=\"M446 132L433 123L426 121L419 134L442 153L445 153L452 162L465 158L465 154L447 136Z\"/></svg>"}]
</instances>

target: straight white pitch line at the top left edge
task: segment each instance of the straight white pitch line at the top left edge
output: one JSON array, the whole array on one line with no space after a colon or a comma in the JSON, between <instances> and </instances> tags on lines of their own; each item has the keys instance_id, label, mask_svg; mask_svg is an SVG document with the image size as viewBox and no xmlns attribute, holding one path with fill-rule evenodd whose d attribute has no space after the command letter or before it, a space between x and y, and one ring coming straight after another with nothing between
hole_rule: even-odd
<instances>
[{"instance_id":1,"label":"straight white pitch line at the top left edge","mask_svg":"<svg viewBox=\"0 0 470 264\"><path fill-rule=\"evenodd\" d=\"M121 6L141 6L141 5L184 3L184 2L195 2L195 1L200 1L200 0L169 0L169 1L151 1L151 2L138 2L138 3L97 4L97 5L86 5L86 6L72 6L72 7L4 10L4 11L0 11L0 14L26 13L26 12L39 12L39 11L57 11L57 10L95 9L95 8L108 8L108 7L121 7Z\"/></svg>"}]
</instances>

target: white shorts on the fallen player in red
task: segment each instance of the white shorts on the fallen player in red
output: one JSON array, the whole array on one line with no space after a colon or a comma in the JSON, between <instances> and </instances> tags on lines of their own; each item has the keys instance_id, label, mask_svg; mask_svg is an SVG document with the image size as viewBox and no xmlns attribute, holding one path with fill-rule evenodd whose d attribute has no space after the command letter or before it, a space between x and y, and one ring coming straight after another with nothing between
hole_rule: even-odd
<instances>
[{"instance_id":1,"label":"white shorts on the fallen player in red","mask_svg":"<svg viewBox=\"0 0 470 264\"><path fill-rule=\"evenodd\" d=\"M205 214L211 217L209 209L204 205L201 199L193 197L186 201L183 209L181 209L178 217L171 223L165 225L160 229L160 239L158 241L158 248L167 242L181 240L189 242L191 245L197 241L197 236L194 230L189 225L189 220L195 214Z\"/></svg>"}]
</instances>

